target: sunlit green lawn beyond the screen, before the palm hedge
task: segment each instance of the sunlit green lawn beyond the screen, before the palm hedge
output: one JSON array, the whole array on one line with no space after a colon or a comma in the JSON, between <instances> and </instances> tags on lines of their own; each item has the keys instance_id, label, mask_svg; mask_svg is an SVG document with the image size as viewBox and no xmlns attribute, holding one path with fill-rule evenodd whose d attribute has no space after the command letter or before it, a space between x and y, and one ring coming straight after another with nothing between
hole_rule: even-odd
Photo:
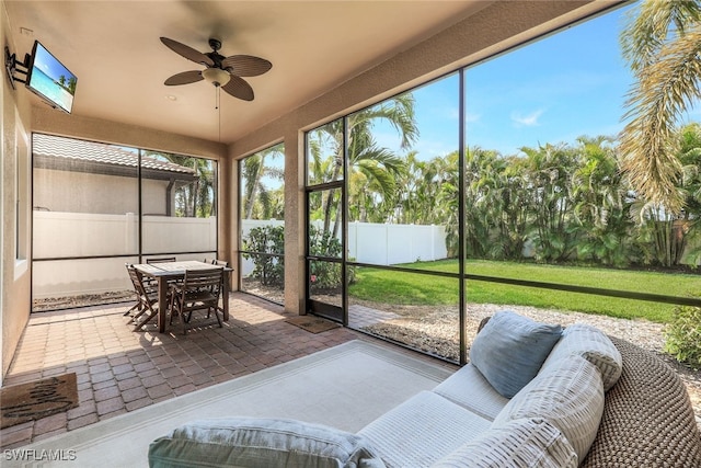
<instances>
[{"instance_id":1,"label":"sunlit green lawn beyond the screen, before the palm hedge","mask_svg":"<svg viewBox=\"0 0 701 468\"><path fill-rule=\"evenodd\" d=\"M456 260L417 262L417 270L458 273ZM553 266L532 263L472 260L467 273L537 282L589 286L667 296L699 297L701 275L621 271L596 267ZM350 286L352 297L383 304L450 305L458 303L458 279L415 273L361 267ZM468 282L468 303L532 306L601 313L619 318L644 318L667 323L675 306L643 300L594 296L482 281Z\"/></svg>"}]
</instances>

